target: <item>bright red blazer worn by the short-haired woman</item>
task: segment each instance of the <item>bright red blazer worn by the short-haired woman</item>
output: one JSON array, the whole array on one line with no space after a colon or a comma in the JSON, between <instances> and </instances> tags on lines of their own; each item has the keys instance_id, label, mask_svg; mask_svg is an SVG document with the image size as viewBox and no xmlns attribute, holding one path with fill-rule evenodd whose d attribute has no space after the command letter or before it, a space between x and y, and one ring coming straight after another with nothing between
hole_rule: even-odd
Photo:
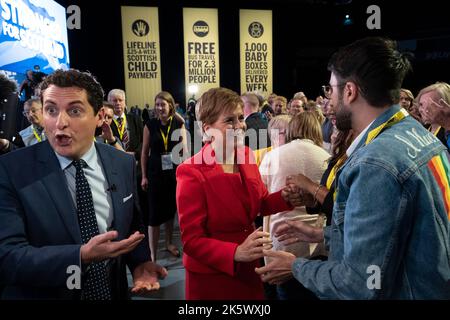
<instances>
[{"instance_id":1,"label":"bright red blazer worn by the short-haired woman","mask_svg":"<svg viewBox=\"0 0 450 320\"><path fill-rule=\"evenodd\" d=\"M258 167L249 164L255 163L250 149L238 150L238 159L246 160L238 164L239 174L224 173L207 144L177 169L187 299L264 297L254 271L257 261L236 263L234 253L254 231L253 221L259 213L269 215L292 208L281 192L268 194Z\"/></svg>"}]
</instances>

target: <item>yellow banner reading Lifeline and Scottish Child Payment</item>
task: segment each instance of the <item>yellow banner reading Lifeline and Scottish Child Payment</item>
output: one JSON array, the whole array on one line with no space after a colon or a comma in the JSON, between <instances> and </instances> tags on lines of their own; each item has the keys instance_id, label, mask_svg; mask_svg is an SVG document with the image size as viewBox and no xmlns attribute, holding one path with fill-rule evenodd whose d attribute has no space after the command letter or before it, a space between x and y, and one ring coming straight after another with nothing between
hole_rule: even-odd
<instances>
[{"instance_id":1,"label":"yellow banner reading Lifeline and Scottish Child Payment","mask_svg":"<svg viewBox=\"0 0 450 320\"><path fill-rule=\"evenodd\" d=\"M161 91L158 8L122 7L122 39L127 105L153 106Z\"/></svg>"}]
</instances>

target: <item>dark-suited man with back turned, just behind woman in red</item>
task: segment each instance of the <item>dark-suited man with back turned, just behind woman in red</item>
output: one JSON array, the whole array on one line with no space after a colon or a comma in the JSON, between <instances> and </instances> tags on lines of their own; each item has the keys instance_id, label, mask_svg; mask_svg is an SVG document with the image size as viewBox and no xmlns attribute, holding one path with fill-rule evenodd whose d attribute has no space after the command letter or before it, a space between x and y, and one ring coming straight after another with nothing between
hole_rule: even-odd
<instances>
[{"instance_id":1,"label":"dark-suited man with back turned, just behind woman in red","mask_svg":"<svg viewBox=\"0 0 450 320\"><path fill-rule=\"evenodd\" d=\"M242 101L244 101L244 117L247 126L245 145L253 151L270 147L268 123L259 112L258 96L251 92L245 93L242 95Z\"/></svg>"}]
</instances>

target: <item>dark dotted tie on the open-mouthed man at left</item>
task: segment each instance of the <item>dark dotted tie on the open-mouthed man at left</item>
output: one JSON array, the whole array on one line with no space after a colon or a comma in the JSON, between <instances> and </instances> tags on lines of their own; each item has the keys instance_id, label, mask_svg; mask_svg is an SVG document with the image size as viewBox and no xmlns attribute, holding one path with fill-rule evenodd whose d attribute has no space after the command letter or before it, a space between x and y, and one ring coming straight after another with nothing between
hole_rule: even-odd
<instances>
[{"instance_id":1,"label":"dark dotted tie on the open-mouthed man at left","mask_svg":"<svg viewBox=\"0 0 450 320\"><path fill-rule=\"evenodd\" d=\"M99 230L97 218L95 217L91 188L83 172L83 168L87 164L84 160L75 160L72 164L77 169L75 176L77 213L81 240L84 244L92 237L98 235ZM86 279L82 287L82 299L111 300L111 290L104 262L94 262L88 267Z\"/></svg>"}]
</instances>

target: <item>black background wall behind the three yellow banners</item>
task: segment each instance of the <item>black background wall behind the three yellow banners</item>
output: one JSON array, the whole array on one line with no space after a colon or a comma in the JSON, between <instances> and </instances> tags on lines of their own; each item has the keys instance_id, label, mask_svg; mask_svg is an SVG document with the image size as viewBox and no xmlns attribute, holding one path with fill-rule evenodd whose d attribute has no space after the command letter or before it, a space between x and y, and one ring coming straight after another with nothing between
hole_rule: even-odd
<instances>
[{"instance_id":1,"label":"black background wall behind the three yellow banners","mask_svg":"<svg viewBox=\"0 0 450 320\"><path fill-rule=\"evenodd\" d=\"M124 88L120 6L159 7L162 88L184 103L183 7L219 9L221 85L240 90L239 9L273 10L274 92L321 94L327 62L340 46L365 36L389 36L412 52L414 72L404 83L415 94L435 81L450 82L450 19L444 1L366 0L57 0L81 8L81 29L69 30L71 66L89 70L105 91ZM381 8L381 30L366 26L367 7ZM349 14L352 25L344 25ZM152 105L152 102L149 102Z\"/></svg>"}]
</instances>

